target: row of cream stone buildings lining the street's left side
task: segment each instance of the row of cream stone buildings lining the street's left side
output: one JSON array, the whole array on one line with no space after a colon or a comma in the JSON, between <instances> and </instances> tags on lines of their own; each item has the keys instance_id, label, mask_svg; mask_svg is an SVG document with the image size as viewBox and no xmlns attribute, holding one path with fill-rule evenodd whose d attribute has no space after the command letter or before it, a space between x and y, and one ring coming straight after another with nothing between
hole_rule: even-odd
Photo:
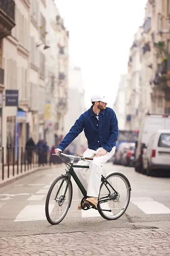
<instances>
[{"instance_id":1,"label":"row of cream stone buildings lining the street's left side","mask_svg":"<svg viewBox=\"0 0 170 256\"><path fill-rule=\"evenodd\" d=\"M13 147L24 149L29 137L35 143L47 139L52 146L55 133L62 131L69 32L52 0L2 0L0 17L0 147L4 147L6 162L7 149L10 154ZM64 55L59 45L65 48ZM56 109L61 99L64 107L59 118Z\"/></svg>"}]
</instances>

